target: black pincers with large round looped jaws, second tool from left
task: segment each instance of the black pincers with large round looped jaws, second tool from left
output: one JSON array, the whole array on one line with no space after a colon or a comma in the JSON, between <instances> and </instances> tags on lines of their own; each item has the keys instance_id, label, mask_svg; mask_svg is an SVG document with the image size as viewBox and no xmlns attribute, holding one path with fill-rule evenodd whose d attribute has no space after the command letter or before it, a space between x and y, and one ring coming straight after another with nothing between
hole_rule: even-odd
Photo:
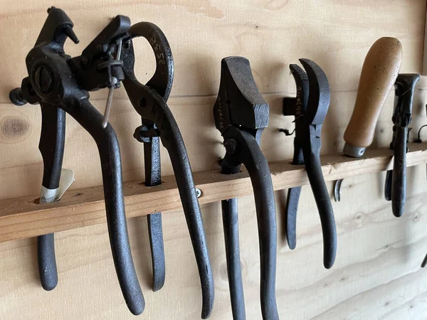
<instances>
[{"instance_id":1,"label":"black pincers with large round looped jaws, second tool from left","mask_svg":"<svg viewBox=\"0 0 427 320\"><path fill-rule=\"evenodd\" d=\"M206 319L211 314L214 306L214 278L206 245L203 221L201 219L201 210L199 201L197 200L196 187L194 186L184 140L166 102L172 89L174 76L172 50L162 30L153 23L136 23L129 29L128 34L129 36L123 40L121 53L122 70L125 73L123 85L130 98L130 102L132 102L133 107L142 119L142 125L137 127L134 137L139 142L144 142L145 184L149 186L161 182L158 149L160 139L169 153L178 185L179 196L182 207L184 208L186 223L189 228L201 279L203 298L201 317ZM139 36L149 41L156 58L156 71L146 85L137 80L134 72L135 53L132 39ZM154 289L156 289L156 281L164 277L164 270L157 270L156 257L160 257L159 261L162 263L163 250L157 247L159 242L157 244L155 242L162 239L162 222L161 218L157 218L159 217L159 213L154 213L154 215L157 215L154 217L154 220L152 217L149 217L149 233L154 267Z\"/></svg>"}]
</instances>

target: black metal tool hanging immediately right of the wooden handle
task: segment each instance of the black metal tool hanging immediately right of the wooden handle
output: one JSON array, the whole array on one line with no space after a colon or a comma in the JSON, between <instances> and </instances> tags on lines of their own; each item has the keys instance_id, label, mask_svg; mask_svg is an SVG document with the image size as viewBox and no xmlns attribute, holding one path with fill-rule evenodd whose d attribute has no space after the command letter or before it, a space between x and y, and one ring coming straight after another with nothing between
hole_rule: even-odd
<instances>
[{"instance_id":1,"label":"black metal tool hanging immediately right of the wooden handle","mask_svg":"<svg viewBox=\"0 0 427 320\"><path fill-rule=\"evenodd\" d=\"M406 201L406 152L408 152L408 125L411 124L412 100L415 86L420 80L417 73L400 73L394 84L393 139L390 149L394 151L393 170L387 171L384 196L391 201L391 210L396 217L404 214Z\"/></svg>"}]
</instances>

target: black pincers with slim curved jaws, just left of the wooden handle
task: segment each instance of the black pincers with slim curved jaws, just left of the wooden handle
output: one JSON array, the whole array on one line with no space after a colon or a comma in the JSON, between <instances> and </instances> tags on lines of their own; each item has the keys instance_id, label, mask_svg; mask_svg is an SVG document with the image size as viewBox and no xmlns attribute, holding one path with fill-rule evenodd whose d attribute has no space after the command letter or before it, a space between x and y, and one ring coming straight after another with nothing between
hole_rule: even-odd
<instances>
[{"instance_id":1,"label":"black pincers with slim curved jaws, just left of the wooden handle","mask_svg":"<svg viewBox=\"0 0 427 320\"><path fill-rule=\"evenodd\" d=\"M295 116L294 155L292 164L305 165L323 233L323 265L329 269L337 252L337 230L329 193L320 164L320 133L330 105L329 83L323 70L312 60L300 59L304 67L291 64L290 72L297 85L297 97L283 99L283 114ZM285 134L287 130L281 129ZM290 188L286 204L287 238L290 249L296 245L297 208L301 187Z\"/></svg>"}]
</instances>

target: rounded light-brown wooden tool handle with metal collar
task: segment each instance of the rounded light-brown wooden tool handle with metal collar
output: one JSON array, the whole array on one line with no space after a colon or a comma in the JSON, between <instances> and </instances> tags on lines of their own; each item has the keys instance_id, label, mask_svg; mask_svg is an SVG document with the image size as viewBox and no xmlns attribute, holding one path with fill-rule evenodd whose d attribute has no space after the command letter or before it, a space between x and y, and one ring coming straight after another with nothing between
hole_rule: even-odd
<instances>
[{"instance_id":1,"label":"rounded light-brown wooden tool handle with metal collar","mask_svg":"<svg viewBox=\"0 0 427 320\"><path fill-rule=\"evenodd\" d=\"M360 74L359 90L352 117L344 132L344 140L349 145L362 149L374 139L376 121L387 96L399 75L402 47L396 38L379 38L369 49ZM344 147L344 153L346 152Z\"/></svg>"}]
</instances>

